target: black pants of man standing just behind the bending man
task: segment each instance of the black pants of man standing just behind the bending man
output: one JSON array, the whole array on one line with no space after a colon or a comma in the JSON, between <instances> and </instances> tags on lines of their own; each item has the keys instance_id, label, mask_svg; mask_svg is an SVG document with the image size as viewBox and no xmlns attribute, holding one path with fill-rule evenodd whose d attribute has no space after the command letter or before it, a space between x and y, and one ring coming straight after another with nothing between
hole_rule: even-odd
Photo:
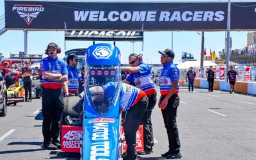
<instances>
[{"instance_id":1,"label":"black pants of man standing just behind the bending man","mask_svg":"<svg viewBox=\"0 0 256 160\"><path fill-rule=\"evenodd\" d=\"M148 107L147 111L143 117L143 140L144 140L144 150L152 151L152 146L154 145L154 136L153 136L153 126L151 123L151 114L154 106L156 105L156 99L153 95L148 96Z\"/></svg>"}]
</instances>

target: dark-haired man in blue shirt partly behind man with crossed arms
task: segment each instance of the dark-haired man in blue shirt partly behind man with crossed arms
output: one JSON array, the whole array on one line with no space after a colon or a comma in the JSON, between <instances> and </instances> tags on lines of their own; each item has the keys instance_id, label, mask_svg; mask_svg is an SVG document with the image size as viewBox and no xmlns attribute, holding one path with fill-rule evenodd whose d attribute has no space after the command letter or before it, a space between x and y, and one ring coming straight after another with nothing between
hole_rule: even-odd
<instances>
[{"instance_id":1,"label":"dark-haired man in blue shirt partly behind man with crossed arms","mask_svg":"<svg viewBox=\"0 0 256 160\"><path fill-rule=\"evenodd\" d=\"M78 70L76 68L78 63L78 56L75 53L68 54L67 58L67 70L68 70L68 81L64 83L65 97L68 97L69 93L78 95Z\"/></svg>"}]
</instances>

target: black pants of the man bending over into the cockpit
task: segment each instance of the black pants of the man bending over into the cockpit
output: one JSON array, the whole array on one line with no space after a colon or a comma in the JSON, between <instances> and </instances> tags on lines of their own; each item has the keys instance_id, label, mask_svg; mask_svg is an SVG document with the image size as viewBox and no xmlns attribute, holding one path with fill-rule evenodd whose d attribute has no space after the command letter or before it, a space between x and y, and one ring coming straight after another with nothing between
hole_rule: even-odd
<instances>
[{"instance_id":1,"label":"black pants of the man bending over into the cockpit","mask_svg":"<svg viewBox=\"0 0 256 160\"><path fill-rule=\"evenodd\" d=\"M148 106L148 98L143 97L131 109L126 111L124 135L127 144L127 159L136 159L136 132Z\"/></svg>"}]
</instances>

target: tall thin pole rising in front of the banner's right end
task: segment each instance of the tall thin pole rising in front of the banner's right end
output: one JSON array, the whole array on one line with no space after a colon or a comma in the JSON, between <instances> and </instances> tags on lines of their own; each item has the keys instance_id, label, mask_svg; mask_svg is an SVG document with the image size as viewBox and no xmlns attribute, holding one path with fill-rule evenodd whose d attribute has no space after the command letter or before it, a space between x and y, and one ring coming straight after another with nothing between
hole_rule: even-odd
<instances>
[{"instance_id":1,"label":"tall thin pole rising in front of the banner's right end","mask_svg":"<svg viewBox=\"0 0 256 160\"><path fill-rule=\"evenodd\" d=\"M225 77L226 80L228 80L227 72L229 67L229 49L230 49L230 10L231 10L231 3L230 0L228 0L228 21L227 21L227 47L226 47L226 73Z\"/></svg>"}]
</instances>

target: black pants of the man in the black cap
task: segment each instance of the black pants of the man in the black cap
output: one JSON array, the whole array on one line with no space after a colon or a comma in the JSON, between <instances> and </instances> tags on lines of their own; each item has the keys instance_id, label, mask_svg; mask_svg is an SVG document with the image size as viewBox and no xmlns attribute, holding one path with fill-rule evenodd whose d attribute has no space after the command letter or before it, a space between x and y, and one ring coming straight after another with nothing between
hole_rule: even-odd
<instances>
[{"instance_id":1,"label":"black pants of the man in the black cap","mask_svg":"<svg viewBox=\"0 0 256 160\"><path fill-rule=\"evenodd\" d=\"M165 95L162 95L161 100L163 100L164 97ZM173 94L172 97L170 97L168 100L166 108L161 110L164 119L164 125L167 130L170 152L179 152L180 150L179 131L176 122L179 102L179 95Z\"/></svg>"}]
</instances>

